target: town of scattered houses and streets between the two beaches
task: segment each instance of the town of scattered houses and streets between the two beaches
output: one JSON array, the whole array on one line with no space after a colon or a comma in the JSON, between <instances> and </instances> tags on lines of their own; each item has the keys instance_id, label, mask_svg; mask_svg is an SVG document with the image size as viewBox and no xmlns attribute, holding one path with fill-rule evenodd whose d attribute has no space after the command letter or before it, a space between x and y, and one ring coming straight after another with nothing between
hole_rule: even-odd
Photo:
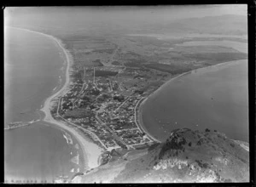
<instances>
[{"instance_id":1,"label":"town of scattered houses and streets between the two beaches","mask_svg":"<svg viewBox=\"0 0 256 187\"><path fill-rule=\"evenodd\" d=\"M144 149L156 140L140 127L138 107L157 88L144 74L124 65L75 66L69 90L55 99L51 114L106 150L102 162L113 150Z\"/></svg>"}]
</instances>

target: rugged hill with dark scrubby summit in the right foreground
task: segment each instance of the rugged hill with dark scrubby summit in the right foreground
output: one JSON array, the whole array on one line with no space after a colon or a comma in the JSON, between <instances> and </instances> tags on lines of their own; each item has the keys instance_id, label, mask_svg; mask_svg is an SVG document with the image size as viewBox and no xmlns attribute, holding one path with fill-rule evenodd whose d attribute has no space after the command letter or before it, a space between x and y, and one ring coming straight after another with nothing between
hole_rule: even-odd
<instances>
[{"instance_id":1,"label":"rugged hill with dark scrubby summit in the right foreground","mask_svg":"<svg viewBox=\"0 0 256 187\"><path fill-rule=\"evenodd\" d=\"M247 182L248 144L217 131L172 131L162 144L134 150L73 183L194 183Z\"/></svg>"}]
</instances>

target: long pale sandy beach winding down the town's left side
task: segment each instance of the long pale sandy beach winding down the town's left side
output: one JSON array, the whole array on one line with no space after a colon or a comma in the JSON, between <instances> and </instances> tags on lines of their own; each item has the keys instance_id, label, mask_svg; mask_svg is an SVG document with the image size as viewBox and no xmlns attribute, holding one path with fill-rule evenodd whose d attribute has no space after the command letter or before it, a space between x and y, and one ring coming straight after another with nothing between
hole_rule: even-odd
<instances>
[{"instance_id":1,"label":"long pale sandy beach winding down the town's left side","mask_svg":"<svg viewBox=\"0 0 256 187\"><path fill-rule=\"evenodd\" d=\"M20 30L24 30L24 31L32 31L32 30L18 28L18 27L10 27L10 28L20 29ZM61 96L61 94L63 94L65 91L68 90L68 87L70 84L69 71L70 71L71 65L73 65L73 56L64 47L64 44L63 44L63 42L61 42L60 39L50 36L48 34L44 34L42 32L38 32L38 31L32 31L32 32L38 33L40 35L44 35L45 37L49 37L54 42L56 42L58 47L61 48L62 53L64 53L64 60L65 60L64 65L66 66L66 80L65 80L64 85L59 90L56 90L55 93L50 95L49 98L45 99L43 107L39 110L39 111L44 112L44 118L42 119L42 121L48 122L57 127L61 127L61 129L64 129L68 133L71 133L73 135L73 137L75 139L77 139L77 141L80 144L80 147L83 150L83 158L84 158L84 165L85 165L85 166L83 166L84 171L86 171L86 169L88 169L88 167L89 167L89 169L98 167L99 165L98 165L97 161L98 161L98 158L102 155L102 148L99 147L97 144L91 142L90 139L88 139L87 137L84 137L83 135L81 135L73 127L67 126L67 124L65 124L65 122L56 121L53 118L53 116L51 116L51 113L50 113L50 108L53 105L53 103L51 103L50 101L52 99L55 99L58 96Z\"/></svg>"}]
</instances>

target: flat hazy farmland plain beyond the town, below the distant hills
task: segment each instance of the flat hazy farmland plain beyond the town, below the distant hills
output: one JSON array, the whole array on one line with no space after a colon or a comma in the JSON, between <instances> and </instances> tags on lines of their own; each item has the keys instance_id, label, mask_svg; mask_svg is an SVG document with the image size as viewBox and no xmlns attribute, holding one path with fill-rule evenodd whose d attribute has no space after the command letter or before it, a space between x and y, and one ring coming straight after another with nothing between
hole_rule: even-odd
<instances>
[{"instance_id":1,"label":"flat hazy farmland plain beyond the town, below the distant hills","mask_svg":"<svg viewBox=\"0 0 256 187\"><path fill-rule=\"evenodd\" d=\"M69 35L63 42L80 67L126 65L175 75L206 65L247 59L246 37L81 34ZM108 64L110 60L112 63Z\"/></svg>"}]
</instances>

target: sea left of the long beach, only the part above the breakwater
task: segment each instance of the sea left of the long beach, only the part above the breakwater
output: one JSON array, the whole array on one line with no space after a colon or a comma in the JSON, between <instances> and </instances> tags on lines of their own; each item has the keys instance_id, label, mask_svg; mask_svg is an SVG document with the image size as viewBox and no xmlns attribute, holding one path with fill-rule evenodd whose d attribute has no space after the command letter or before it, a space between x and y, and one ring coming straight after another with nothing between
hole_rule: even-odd
<instances>
[{"instance_id":1,"label":"sea left of the long beach, only the part above the breakwater","mask_svg":"<svg viewBox=\"0 0 256 187\"><path fill-rule=\"evenodd\" d=\"M35 111L65 80L61 50L48 37L12 28L4 42L4 123L38 119Z\"/></svg>"}]
</instances>

